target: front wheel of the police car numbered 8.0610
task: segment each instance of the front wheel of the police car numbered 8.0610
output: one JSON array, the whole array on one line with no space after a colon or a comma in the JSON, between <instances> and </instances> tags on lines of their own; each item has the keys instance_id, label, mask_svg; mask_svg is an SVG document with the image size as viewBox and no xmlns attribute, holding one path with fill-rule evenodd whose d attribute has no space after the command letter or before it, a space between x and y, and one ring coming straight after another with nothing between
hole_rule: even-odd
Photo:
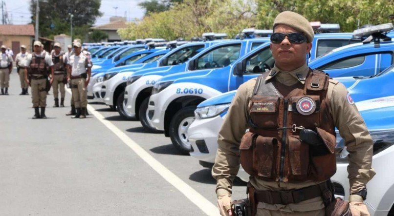
<instances>
[{"instance_id":1,"label":"front wheel of the police car numbered 8.0610","mask_svg":"<svg viewBox=\"0 0 394 216\"><path fill-rule=\"evenodd\" d=\"M184 155L189 155L191 144L187 137L187 129L193 123L196 107L184 107L175 113L170 123L169 134L175 148Z\"/></svg>"}]
</instances>

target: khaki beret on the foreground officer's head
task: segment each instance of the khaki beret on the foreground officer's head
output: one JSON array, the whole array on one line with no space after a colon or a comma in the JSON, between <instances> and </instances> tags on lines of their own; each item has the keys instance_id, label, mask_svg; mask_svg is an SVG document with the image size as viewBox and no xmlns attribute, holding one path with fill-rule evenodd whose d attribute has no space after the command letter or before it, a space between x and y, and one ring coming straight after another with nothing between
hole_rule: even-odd
<instances>
[{"instance_id":1,"label":"khaki beret on the foreground officer's head","mask_svg":"<svg viewBox=\"0 0 394 216\"><path fill-rule=\"evenodd\" d=\"M279 24L287 25L303 33L309 43L312 42L315 35L309 21L305 17L291 11L284 11L278 14L275 18L273 29L275 30L275 27Z\"/></svg>"}]
</instances>

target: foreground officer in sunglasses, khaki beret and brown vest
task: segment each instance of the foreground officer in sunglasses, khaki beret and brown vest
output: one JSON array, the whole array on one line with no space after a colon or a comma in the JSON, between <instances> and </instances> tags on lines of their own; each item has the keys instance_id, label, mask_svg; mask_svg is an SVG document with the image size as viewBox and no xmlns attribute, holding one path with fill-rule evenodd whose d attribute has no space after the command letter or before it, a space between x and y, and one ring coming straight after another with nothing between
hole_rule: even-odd
<instances>
[{"instance_id":1,"label":"foreground officer in sunglasses, khaki beret and brown vest","mask_svg":"<svg viewBox=\"0 0 394 216\"><path fill-rule=\"evenodd\" d=\"M334 203L329 178L336 171L336 127L349 152L350 211L369 215L363 200L375 173L364 120L343 84L308 68L314 33L303 16L282 12L273 31L274 68L239 87L219 132L212 175L220 214L232 215L231 188L241 162L250 175L253 215L324 216ZM312 131L309 139L304 129Z\"/></svg>"}]
</instances>

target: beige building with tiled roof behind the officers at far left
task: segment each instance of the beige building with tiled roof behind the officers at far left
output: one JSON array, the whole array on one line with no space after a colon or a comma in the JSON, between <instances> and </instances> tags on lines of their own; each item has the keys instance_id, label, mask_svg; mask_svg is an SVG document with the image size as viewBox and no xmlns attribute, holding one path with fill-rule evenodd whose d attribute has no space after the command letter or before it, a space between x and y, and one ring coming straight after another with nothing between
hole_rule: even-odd
<instances>
[{"instance_id":1,"label":"beige building with tiled roof behind the officers at far left","mask_svg":"<svg viewBox=\"0 0 394 216\"><path fill-rule=\"evenodd\" d=\"M26 45L27 51L32 51L34 40L34 26L28 25L0 25L0 46L5 45L14 52L13 58L21 52L21 45Z\"/></svg>"}]
</instances>

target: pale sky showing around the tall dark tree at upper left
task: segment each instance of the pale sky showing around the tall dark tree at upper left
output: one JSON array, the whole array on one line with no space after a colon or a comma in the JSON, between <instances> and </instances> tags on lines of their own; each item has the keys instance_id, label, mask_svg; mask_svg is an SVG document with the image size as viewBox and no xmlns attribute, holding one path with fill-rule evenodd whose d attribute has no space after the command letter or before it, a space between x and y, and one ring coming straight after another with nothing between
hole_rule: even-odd
<instances>
[{"instance_id":1,"label":"pale sky showing around the tall dark tree at upper left","mask_svg":"<svg viewBox=\"0 0 394 216\"><path fill-rule=\"evenodd\" d=\"M30 0L4 1L10 20L12 16L13 24L27 24L30 22ZM103 16L97 18L95 25L108 23L109 18L115 15L124 17L125 12L127 15L127 20L132 20L135 18L141 19L144 16L144 10L139 8L137 5L141 1L143 0L101 0L100 11L103 13ZM114 7L117 7L117 9L114 9Z\"/></svg>"}]
</instances>

